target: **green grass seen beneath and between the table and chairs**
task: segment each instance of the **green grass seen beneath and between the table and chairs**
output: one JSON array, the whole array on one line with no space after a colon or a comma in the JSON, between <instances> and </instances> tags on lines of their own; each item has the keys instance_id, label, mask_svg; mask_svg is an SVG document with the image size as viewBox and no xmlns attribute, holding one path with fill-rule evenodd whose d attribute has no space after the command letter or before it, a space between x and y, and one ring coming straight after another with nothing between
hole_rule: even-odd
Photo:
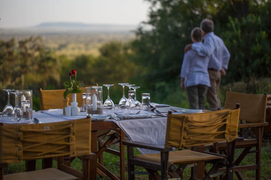
<instances>
[{"instance_id":1,"label":"green grass seen beneath and between the table and chairs","mask_svg":"<svg viewBox=\"0 0 271 180\"><path fill-rule=\"evenodd\" d=\"M118 149L117 145L114 145L115 149ZM235 158L239 156L243 149L235 150ZM252 149L255 150L255 149ZM140 154L139 151L135 148L134 154ZM255 163L256 155L255 153L249 154L244 158L240 165L247 165ZM271 144L269 141L265 142L262 147L262 156L261 156L261 179L267 180L271 179ZM76 158L71 166L78 170L82 168L82 161L79 158ZM104 166L105 168L109 169L114 175L120 177L120 158L109 154L107 152L104 153ZM53 167L57 168L57 162L53 160ZM36 161L36 169L41 169L41 160L38 159ZM8 164L8 168L4 168L4 174L11 174L16 172L24 172L25 171L25 162L18 163L18 164ZM135 171L144 171L144 168L136 167ZM255 170L251 171L244 171L241 172L244 179L255 179ZM190 176L190 169L185 169L183 174L183 179L189 179ZM136 175L136 179L147 179L147 175ZM108 177L99 177L97 179L110 179ZM125 179L128 179L127 174L127 154L126 154L126 147L125 147ZM234 179L237 179L236 175L234 174Z\"/></svg>"}]
</instances>

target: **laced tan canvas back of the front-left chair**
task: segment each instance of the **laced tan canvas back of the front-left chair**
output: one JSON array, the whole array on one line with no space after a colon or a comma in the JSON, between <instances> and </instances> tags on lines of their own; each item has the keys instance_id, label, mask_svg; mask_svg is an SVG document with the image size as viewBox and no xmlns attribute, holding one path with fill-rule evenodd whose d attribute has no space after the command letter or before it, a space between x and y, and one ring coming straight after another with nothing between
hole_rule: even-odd
<instances>
[{"instance_id":1,"label":"laced tan canvas back of the front-left chair","mask_svg":"<svg viewBox=\"0 0 271 180\"><path fill-rule=\"evenodd\" d=\"M91 118L0 125L0 164L91 154Z\"/></svg>"}]
</instances>

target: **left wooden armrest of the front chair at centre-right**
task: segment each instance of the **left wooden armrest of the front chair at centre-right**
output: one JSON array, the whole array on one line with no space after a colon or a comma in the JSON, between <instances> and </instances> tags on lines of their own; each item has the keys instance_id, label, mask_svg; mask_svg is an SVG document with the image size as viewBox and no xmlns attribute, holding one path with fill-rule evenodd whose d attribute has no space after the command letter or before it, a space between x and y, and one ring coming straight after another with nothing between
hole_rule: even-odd
<instances>
[{"instance_id":1,"label":"left wooden armrest of the front chair at centre-right","mask_svg":"<svg viewBox=\"0 0 271 180\"><path fill-rule=\"evenodd\" d=\"M168 152L172 151L172 147L164 147L163 145L156 145L156 144L149 144L145 142L138 142L138 141L122 141L123 145L137 147L137 148L144 148L154 151L161 151L161 152Z\"/></svg>"}]
</instances>

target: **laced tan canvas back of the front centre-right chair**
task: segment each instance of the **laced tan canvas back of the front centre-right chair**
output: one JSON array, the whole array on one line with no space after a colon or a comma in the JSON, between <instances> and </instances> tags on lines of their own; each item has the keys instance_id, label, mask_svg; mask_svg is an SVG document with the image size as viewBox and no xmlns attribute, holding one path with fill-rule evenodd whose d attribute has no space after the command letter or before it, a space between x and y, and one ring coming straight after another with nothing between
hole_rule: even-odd
<instances>
[{"instance_id":1,"label":"laced tan canvas back of the front centre-right chair","mask_svg":"<svg viewBox=\"0 0 271 180\"><path fill-rule=\"evenodd\" d=\"M199 146L226 140L238 135L240 109L224 109L197 114L169 114L165 147Z\"/></svg>"}]
</instances>

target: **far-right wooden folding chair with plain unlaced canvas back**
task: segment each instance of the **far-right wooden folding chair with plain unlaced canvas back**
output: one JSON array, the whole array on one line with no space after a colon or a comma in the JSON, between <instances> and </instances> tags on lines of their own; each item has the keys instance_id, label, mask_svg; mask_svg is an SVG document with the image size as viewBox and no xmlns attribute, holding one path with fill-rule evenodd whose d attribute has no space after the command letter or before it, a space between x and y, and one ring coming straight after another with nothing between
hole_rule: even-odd
<instances>
[{"instance_id":1,"label":"far-right wooden folding chair with plain unlaced canvas back","mask_svg":"<svg viewBox=\"0 0 271 180\"><path fill-rule=\"evenodd\" d=\"M255 95L255 94L243 94L232 92L231 89L228 89L225 108L234 107L235 103L240 103L240 120L241 123L238 125L238 128L245 128L247 131L243 131L244 134L249 134L251 128L254 128L256 138L254 139L244 139L243 141L237 141L235 148L244 148L240 156L234 161L233 171L237 175L238 179L244 179L240 171L249 171L256 170L256 179L261 179L261 147L262 147L262 137L263 137L263 127L268 125L265 122L266 114L266 100L267 94L264 95ZM242 131L241 131L242 132ZM225 142L218 142L218 146L212 147L212 151L220 151L224 154L227 154ZM252 147L256 147L256 150L251 151ZM246 157L247 154L256 153L256 163L250 165L240 166L241 161ZM220 169L223 171L223 169Z\"/></svg>"}]
</instances>

